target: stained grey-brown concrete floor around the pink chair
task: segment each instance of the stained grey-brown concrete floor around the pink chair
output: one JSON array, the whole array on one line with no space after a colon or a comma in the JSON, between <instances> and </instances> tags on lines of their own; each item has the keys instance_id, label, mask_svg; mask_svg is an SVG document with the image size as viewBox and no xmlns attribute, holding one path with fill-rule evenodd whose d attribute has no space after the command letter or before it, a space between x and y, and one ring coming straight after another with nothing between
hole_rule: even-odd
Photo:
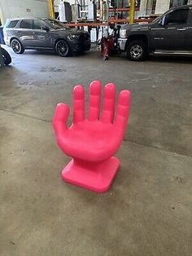
<instances>
[{"instance_id":1,"label":"stained grey-brown concrete floor around the pink chair","mask_svg":"<svg viewBox=\"0 0 192 256\"><path fill-rule=\"evenodd\" d=\"M190 256L192 58L10 52L0 69L0 255ZM51 126L55 104L72 106L72 87L88 91L94 79L132 93L120 170L104 194L63 183L69 157Z\"/></svg>"}]
</instances>

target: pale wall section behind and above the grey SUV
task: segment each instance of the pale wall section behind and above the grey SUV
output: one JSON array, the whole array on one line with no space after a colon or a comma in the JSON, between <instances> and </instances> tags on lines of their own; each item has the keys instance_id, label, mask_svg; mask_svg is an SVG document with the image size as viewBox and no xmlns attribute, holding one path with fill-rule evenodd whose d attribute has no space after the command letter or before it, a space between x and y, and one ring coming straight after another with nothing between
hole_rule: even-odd
<instances>
[{"instance_id":1,"label":"pale wall section behind and above the grey SUV","mask_svg":"<svg viewBox=\"0 0 192 256\"><path fill-rule=\"evenodd\" d=\"M48 17L46 0L0 0L2 24L7 19L18 17Z\"/></svg>"}]
</instances>

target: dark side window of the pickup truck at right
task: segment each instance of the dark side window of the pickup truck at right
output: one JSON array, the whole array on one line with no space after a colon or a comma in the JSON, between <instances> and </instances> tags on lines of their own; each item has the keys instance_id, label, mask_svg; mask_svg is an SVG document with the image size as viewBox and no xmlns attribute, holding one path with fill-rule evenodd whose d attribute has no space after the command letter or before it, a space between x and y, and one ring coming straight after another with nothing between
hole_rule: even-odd
<instances>
[{"instance_id":1,"label":"dark side window of the pickup truck at right","mask_svg":"<svg viewBox=\"0 0 192 256\"><path fill-rule=\"evenodd\" d=\"M165 22L166 24L186 24L188 12L188 9L172 11L166 16Z\"/></svg>"}]
</instances>

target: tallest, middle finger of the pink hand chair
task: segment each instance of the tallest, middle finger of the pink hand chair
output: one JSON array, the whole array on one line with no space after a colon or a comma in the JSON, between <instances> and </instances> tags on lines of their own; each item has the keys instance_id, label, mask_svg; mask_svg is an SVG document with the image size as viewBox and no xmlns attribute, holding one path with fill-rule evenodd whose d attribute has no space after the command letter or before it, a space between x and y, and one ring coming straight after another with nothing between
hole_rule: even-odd
<instances>
[{"instance_id":1,"label":"tallest, middle finger of the pink hand chair","mask_svg":"<svg viewBox=\"0 0 192 256\"><path fill-rule=\"evenodd\" d=\"M89 86L89 121L96 121L100 113L101 82L94 81Z\"/></svg>"}]
</instances>

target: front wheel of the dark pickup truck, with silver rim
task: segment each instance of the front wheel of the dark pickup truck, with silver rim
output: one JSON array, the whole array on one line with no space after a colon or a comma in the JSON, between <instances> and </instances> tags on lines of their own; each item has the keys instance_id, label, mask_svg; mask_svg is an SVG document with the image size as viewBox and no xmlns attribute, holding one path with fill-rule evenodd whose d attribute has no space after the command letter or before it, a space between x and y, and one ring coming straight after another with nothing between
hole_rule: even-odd
<instances>
[{"instance_id":1,"label":"front wheel of the dark pickup truck, with silver rim","mask_svg":"<svg viewBox=\"0 0 192 256\"><path fill-rule=\"evenodd\" d=\"M146 58L146 44L141 40L134 40L129 43L127 57L129 60L144 60Z\"/></svg>"}]
</instances>

